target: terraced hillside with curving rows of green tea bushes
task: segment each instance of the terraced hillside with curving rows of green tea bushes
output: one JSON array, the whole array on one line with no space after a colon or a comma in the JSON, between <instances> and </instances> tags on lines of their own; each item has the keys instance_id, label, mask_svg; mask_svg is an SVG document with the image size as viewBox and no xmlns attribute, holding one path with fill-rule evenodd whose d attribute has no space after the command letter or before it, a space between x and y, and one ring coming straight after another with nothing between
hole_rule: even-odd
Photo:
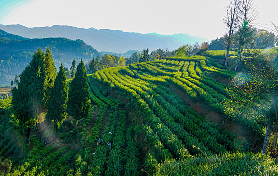
<instances>
[{"instance_id":1,"label":"terraced hillside with curving rows of green tea bushes","mask_svg":"<svg viewBox=\"0 0 278 176\"><path fill-rule=\"evenodd\" d=\"M261 149L264 127L226 106L235 72L210 62L171 57L88 75L92 104L78 133L68 118L57 144L30 139L8 175L277 175L269 156L246 152Z\"/></svg>"}]
</instances>

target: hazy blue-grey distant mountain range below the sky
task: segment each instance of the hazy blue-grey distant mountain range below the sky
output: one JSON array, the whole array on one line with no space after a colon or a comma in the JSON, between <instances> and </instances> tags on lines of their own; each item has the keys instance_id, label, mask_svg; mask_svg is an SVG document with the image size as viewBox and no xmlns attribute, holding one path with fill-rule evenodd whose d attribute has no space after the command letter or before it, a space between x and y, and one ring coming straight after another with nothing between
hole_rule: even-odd
<instances>
[{"instance_id":1,"label":"hazy blue-grey distant mountain range below the sky","mask_svg":"<svg viewBox=\"0 0 278 176\"><path fill-rule=\"evenodd\" d=\"M110 29L84 29L59 25L35 28L28 28L22 25L0 25L0 29L28 38L65 37L71 40L81 39L98 51L109 51L112 53L125 53L129 50L142 51L146 48L152 51L163 47L173 50L182 44L207 41L207 39L202 37L194 37L182 33L174 35L141 34Z\"/></svg>"}]
</instances>

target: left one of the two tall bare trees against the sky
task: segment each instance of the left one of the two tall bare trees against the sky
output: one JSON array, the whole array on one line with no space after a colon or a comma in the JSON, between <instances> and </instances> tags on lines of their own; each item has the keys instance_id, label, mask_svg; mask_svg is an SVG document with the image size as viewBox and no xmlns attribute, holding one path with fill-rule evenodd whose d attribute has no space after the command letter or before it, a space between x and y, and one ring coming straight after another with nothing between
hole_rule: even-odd
<instances>
[{"instance_id":1,"label":"left one of the two tall bare trees against the sky","mask_svg":"<svg viewBox=\"0 0 278 176\"><path fill-rule=\"evenodd\" d=\"M228 32L225 35L225 41L227 42L225 68L227 68L228 66L228 57L229 57L230 47L233 43L233 34L239 24L240 5L241 5L241 0L229 0L229 5L227 7L227 15L223 19L224 23L226 24L226 28L228 30Z\"/></svg>"}]
</instances>

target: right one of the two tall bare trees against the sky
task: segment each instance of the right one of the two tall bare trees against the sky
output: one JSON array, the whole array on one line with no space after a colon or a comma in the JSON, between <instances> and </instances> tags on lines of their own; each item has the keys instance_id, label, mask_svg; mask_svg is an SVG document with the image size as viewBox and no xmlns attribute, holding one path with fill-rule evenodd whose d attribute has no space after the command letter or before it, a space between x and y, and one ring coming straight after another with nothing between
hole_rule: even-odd
<instances>
[{"instance_id":1,"label":"right one of the two tall bare trees against the sky","mask_svg":"<svg viewBox=\"0 0 278 176\"><path fill-rule=\"evenodd\" d=\"M254 21L257 18L258 12L256 11L256 8L254 8L253 0L242 0L240 5L240 23L242 27L239 29L239 48L238 48L238 57L236 59L236 66L235 71L238 70L238 65L241 60L241 54L243 47L250 43L251 41L251 35L250 32L250 23Z\"/></svg>"}]
</instances>

